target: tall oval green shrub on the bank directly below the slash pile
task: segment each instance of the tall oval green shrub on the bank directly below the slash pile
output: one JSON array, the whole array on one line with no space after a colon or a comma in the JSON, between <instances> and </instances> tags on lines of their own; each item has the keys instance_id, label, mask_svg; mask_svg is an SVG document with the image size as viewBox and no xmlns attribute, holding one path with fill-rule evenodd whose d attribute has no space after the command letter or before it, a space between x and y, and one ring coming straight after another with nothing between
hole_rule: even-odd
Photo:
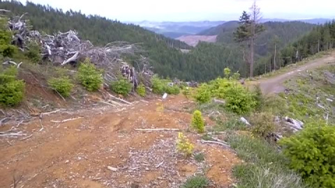
<instances>
[{"instance_id":1,"label":"tall oval green shrub on the bank directly below the slash pile","mask_svg":"<svg viewBox=\"0 0 335 188\"><path fill-rule=\"evenodd\" d=\"M87 91L97 91L103 84L101 72L89 61L89 58L80 63L77 77Z\"/></svg>"}]
</instances>

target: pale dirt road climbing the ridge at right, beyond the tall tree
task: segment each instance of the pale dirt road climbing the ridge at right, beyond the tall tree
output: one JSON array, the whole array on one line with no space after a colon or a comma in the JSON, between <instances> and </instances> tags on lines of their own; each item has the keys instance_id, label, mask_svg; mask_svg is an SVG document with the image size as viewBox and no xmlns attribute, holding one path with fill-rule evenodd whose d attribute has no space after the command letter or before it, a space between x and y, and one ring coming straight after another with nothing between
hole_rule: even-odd
<instances>
[{"instance_id":1,"label":"pale dirt road climbing the ridge at right, beyond the tall tree","mask_svg":"<svg viewBox=\"0 0 335 188\"><path fill-rule=\"evenodd\" d=\"M290 79L301 71L311 70L314 68L321 67L323 65L327 65L328 63L334 63L335 61L335 52L327 56L323 56L322 58L317 58L313 61L310 61L301 66L292 66L292 70L290 72L285 72L281 75L276 75L274 77L261 79L258 84L260 84L260 88L262 89L262 93L265 95L272 93L280 93L285 90L283 83L285 80Z\"/></svg>"}]
</instances>

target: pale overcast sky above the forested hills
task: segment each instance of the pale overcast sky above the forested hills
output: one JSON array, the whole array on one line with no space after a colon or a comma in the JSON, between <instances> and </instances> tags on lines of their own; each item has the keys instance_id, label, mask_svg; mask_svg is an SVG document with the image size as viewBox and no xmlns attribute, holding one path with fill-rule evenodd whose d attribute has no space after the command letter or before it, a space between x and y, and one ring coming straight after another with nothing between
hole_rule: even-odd
<instances>
[{"instance_id":1,"label":"pale overcast sky above the forested hills","mask_svg":"<svg viewBox=\"0 0 335 188\"><path fill-rule=\"evenodd\" d=\"M25 0L20 0L22 3ZM31 0L122 22L238 19L252 0ZM258 0L263 18L335 18L334 0Z\"/></svg>"}]
</instances>

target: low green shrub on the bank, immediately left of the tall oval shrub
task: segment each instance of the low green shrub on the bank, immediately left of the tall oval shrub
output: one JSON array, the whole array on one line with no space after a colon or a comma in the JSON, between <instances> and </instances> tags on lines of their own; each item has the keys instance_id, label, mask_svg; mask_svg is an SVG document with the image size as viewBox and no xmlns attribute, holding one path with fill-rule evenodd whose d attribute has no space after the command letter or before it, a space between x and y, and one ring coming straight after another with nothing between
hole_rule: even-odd
<instances>
[{"instance_id":1,"label":"low green shrub on the bank, immediately left of the tall oval shrub","mask_svg":"<svg viewBox=\"0 0 335 188\"><path fill-rule=\"evenodd\" d=\"M52 78L47 81L47 84L63 97L70 96L70 92L73 88L73 84L68 77Z\"/></svg>"}]
</instances>

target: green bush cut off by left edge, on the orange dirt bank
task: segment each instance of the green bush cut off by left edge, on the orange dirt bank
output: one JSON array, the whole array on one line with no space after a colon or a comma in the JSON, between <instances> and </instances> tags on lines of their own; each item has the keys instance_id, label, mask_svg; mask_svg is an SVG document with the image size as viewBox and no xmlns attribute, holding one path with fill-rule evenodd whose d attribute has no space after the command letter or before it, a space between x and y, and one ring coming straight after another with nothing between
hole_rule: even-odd
<instances>
[{"instance_id":1,"label":"green bush cut off by left edge, on the orange dirt bank","mask_svg":"<svg viewBox=\"0 0 335 188\"><path fill-rule=\"evenodd\" d=\"M24 82L17 80L17 68L14 66L0 73L0 104L15 106L24 96Z\"/></svg>"}]
</instances>

